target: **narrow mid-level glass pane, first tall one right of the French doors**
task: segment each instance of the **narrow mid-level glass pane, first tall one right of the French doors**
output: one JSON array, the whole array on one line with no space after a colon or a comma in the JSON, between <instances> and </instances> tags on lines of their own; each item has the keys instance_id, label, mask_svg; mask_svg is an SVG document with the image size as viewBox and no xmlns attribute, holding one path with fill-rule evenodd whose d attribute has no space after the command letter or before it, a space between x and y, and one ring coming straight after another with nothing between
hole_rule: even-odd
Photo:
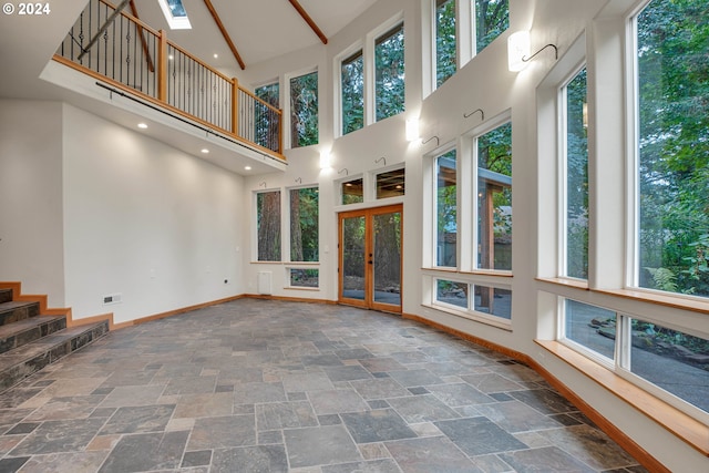
<instances>
[{"instance_id":1,"label":"narrow mid-level glass pane, first tall one right of the French doors","mask_svg":"<svg viewBox=\"0 0 709 473\"><path fill-rule=\"evenodd\" d=\"M455 150L438 157L436 181L436 266L456 267L458 175Z\"/></svg>"}]
</instances>

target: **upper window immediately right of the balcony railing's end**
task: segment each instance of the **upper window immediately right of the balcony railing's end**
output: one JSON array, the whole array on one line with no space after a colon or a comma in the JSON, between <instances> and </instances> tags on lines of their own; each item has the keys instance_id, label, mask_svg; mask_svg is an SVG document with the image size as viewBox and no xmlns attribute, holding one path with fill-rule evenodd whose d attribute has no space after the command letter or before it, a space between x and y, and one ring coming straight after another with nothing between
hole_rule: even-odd
<instances>
[{"instance_id":1,"label":"upper window immediately right of the balcony railing's end","mask_svg":"<svg viewBox=\"0 0 709 473\"><path fill-rule=\"evenodd\" d=\"M290 147L318 144L318 71L290 80Z\"/></svg>"}]
</instances>

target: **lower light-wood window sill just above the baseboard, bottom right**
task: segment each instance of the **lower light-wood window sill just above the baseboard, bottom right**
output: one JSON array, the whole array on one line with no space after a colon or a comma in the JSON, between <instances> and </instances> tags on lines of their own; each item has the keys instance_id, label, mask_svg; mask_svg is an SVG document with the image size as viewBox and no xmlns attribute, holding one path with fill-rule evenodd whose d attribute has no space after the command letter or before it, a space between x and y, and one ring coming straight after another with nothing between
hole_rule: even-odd
<instances>
[{"instance_id":1,"label":"lower light-wood window sill just above the baseboard, bottom right","mask_svg":"<svg viewBox=\"0 0 709 473\"><path fill-rule=\"evenodd\" d=\"M535 342L672 432L705 456L709 456L709 425L557 341L535 340Z\"/></svg>"}]
</instances>

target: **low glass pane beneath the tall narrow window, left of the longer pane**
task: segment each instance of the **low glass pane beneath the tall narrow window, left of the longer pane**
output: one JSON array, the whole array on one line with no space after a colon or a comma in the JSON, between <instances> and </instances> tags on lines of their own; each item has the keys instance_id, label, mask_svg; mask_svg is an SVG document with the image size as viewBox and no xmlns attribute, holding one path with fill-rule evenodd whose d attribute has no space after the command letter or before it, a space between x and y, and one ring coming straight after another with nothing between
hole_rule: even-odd
<instances>
[{"instance_id":1,"label":"low glass pane beneath the tall narrow window, left of the longer pane","mask_svg":"<svg viewBox=\"0 0 709 473\"><path fill-rule=\"evenodd\" d=\"M567 339L615 359L616 312L565 299L564 325Z\"/></svg>"}]
</instances>

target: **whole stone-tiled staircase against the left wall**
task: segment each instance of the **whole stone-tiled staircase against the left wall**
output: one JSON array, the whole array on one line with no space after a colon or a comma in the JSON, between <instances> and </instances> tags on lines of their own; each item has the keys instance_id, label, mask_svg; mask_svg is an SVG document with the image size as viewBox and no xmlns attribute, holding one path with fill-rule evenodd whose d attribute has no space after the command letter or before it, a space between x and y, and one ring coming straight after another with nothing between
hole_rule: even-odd
<instances>
[{"instance_id":1,"label":"whole stone-tiled staircase against the left wall","mask_svg":"<svg viewBox=\"0 0 709 473\"><path fill-rule=\"evenodd\" d=\"M109 331L109 321L66 328L66 316L42 316L39 302L12 300L0 288L0 392Z\"/></svg>"}]
</instances>

